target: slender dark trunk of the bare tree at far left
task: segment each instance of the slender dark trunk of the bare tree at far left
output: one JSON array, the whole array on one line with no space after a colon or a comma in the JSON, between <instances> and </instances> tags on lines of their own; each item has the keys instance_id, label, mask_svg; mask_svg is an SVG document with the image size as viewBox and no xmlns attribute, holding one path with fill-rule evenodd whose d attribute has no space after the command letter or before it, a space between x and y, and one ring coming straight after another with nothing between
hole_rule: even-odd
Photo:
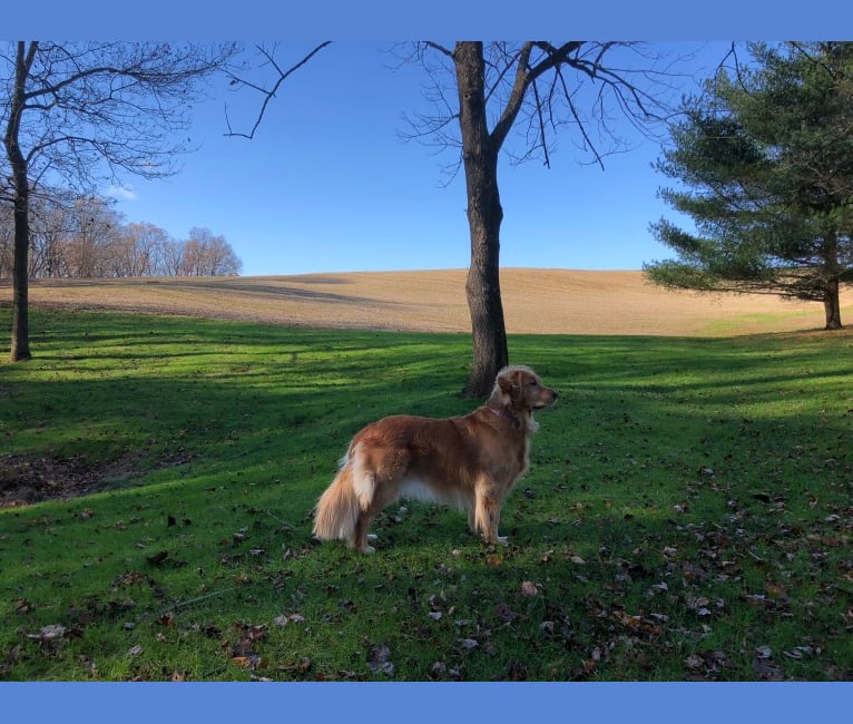
<instances>
[{"instance_id":1,"label":"slender dark trunk of the bare tree at far left","mask_svg":"<svg viewBox=\"0 0 853 724\"><path fill-rule=\"evenodd\" d=\"M31 53L37 43L30 46L31 52L24 56L24 43L18 42L16 59L14 88L9 105L9 119L3 135L7 157L12 170L14 188L14 252L12 262L12 362L29 360L29 251L30 251L30 182L27 159L19 143L21 112L23 111L24 90Z\"/></svg>"}]
</instances>

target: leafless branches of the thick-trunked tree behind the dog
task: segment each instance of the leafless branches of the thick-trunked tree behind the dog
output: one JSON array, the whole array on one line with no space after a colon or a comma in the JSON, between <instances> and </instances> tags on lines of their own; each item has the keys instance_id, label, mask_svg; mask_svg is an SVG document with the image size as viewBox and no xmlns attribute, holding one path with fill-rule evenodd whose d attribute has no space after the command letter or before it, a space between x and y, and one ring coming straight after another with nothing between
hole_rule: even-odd
<instances>
[{"instance_id":1,"label":"leafless branches of the thick-trunked tree behind the dog","mask_svg":"<svg viewBox=\"0 0 853 724\"><path fill-rule=\"evenodd\" d=\"M432 85L424 97L433 105L431 114L403 117L410 130L401 133L401 138L459 148L459 129L451 123L459 118L459 100L449 92L455 88L455 77L449 63L434 62L435 58L452 59L451 51L423 41L408 57L398 57L426 69ZM687 78L674 62L639 42L492 42L483 60L492 145L502 148L517 127L523 146L522 150L516 144L507 148L512 163L536 156L547 167L553 162L557 135L566 126L577 134L578 147L600 166L605 156L629 148L614 125L617 117L659 140L661 121L671 114L667 100L674 84Z\"/></svg>"}]
</instances>

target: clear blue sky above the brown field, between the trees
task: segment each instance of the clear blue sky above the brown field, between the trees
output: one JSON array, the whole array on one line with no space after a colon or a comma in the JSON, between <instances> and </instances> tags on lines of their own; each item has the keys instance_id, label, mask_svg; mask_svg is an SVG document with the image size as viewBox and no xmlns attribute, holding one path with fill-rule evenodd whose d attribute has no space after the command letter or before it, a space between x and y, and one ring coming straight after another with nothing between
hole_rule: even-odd
<instances>
[{"instance_id":1,"label":"clear blue sky above the brown field, between the trees","mask_svg":"<svg viewBox=\"0 0 853 724\"><path fill-rule=\"evenodd\" d=\"M312 42L278 48L285 67ZM262 97L222 91L195 110L183 170L166 180L126 179L127 221L150 222L176 238L204 226L225 236L244 275L329 271L465 267L469 236L464 178L448 184L454 150L403 141L403 114L428 110L428 76L396 65L389 43L334 42L291 76L252 140L226 137L225 102L235 129L248 130ZM663 47L663 46L661 46ZM704 48L690 67L707 67L725 43L666 43L674 56ZM627 124L621 124L628 131ZM551 168L513 166L504 155L504 266L640 268L667 250L648 232L667 213L656 198L655 141L629 134L636 148L605 158L579 150L568 129ZM519 150L521 138L507 147ZM124 196L124 195L120 195Z\"/></svg>"}]
</instances>

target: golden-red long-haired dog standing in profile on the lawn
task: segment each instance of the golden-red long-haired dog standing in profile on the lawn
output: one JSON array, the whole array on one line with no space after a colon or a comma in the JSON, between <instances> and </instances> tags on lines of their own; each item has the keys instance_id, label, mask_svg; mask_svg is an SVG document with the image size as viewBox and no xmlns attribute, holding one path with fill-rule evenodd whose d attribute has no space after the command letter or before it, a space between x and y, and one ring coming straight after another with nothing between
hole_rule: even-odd
<instances>
[{"instance_id":1,"label":"golden-red long-haired dog standing in profile on the lawn","mask_svg":"<svg viewBox=\"0 0 853 724\"><path fill-rule=\"evenodd\" d=\"M486 404L465 415L392 415L369 424L317 502L314 536L373 552L373 518L402 497L467 510L472 532L506 545L498 536L501 506L527 472L530 436L539 427L533 411L556 400L530 368L513 365L498 373Z\"/></svg>"}]
</instances>

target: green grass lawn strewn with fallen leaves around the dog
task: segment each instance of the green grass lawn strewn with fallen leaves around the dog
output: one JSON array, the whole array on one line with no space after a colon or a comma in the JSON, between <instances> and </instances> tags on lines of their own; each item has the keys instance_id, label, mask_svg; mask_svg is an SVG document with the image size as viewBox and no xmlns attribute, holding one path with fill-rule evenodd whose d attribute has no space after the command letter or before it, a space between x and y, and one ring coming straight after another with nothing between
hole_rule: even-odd
<instances>
[{"instance_id":1,"label":"green grass lawn strewn with fallen leaves around the dog","mask_svg":"<svg viewBox=\"0 0 853 724\"><path fill-rule=\"evenodd\" d=\"M311 508L361 425L472 407L465 335L32 331L0 364L0 459L100 490L0 511L4 679L853 676L850 334L514 336L561 395L511 546L406 503L363 557L314 544Z\"/></svg>"}]
</instances>

